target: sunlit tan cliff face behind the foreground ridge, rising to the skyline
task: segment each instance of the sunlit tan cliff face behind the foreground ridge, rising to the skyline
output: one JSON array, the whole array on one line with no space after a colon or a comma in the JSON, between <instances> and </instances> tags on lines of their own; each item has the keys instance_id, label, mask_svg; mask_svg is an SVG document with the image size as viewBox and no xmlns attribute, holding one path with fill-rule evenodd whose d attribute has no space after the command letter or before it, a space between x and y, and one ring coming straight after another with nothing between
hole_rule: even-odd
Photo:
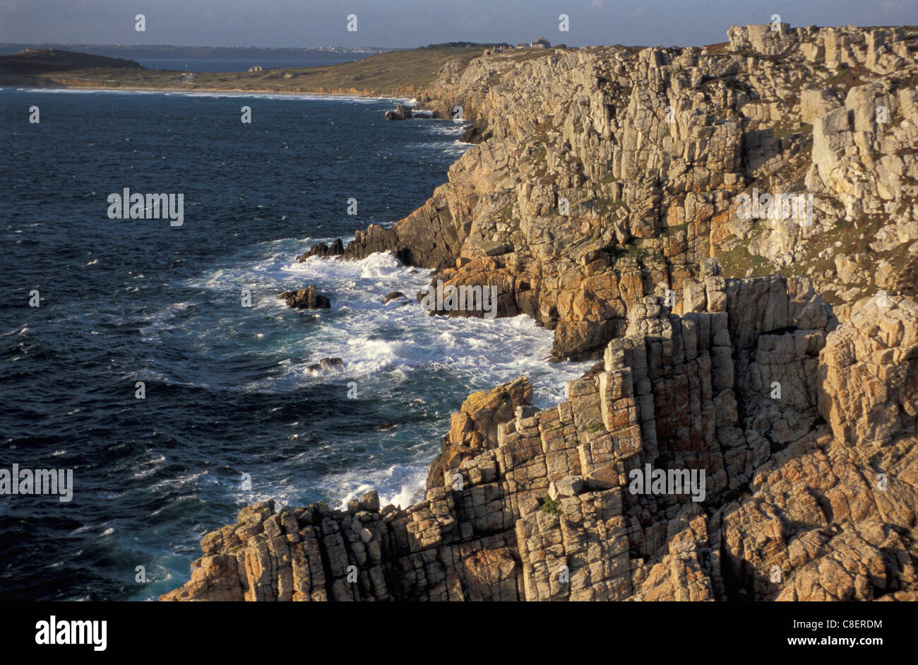
<instances>
[{"instance_id":1,"label":"sunlit tan cliff face behind the foreground ridge, rising to the skyline","mask_svg":"<svg viewBox=\"0 0 918 665\"><path fill-rule=\"evenodd\" d=\"M712 256L724 276L808 275L842 320L878 288L915 297L918 31L776 28L448 62L420 103L463 107L487 139L405 220L304 257L390 251L496 285L498 315L554 330L559 357L598 357ZM753 193L770 214L738 214Z\"/></svg>"}]
</instances>

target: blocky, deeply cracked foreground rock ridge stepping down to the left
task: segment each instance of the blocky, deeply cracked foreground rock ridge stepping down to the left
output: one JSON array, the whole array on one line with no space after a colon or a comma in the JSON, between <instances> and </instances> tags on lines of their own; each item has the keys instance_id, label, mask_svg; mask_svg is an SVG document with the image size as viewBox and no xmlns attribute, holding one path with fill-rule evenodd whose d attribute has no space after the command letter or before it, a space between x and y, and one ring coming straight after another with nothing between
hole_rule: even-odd
<instances>
[{"instance_id":1,"label":"blocky, deeply cracked foreground rock ridge stepping down to the left","mask_svg":"<svg viewBox=\"0 0 918 665\"><path fill-rule=\"evenodd\" d=\"M423 502L244 508L162 600L918 600L918 306L704 286L636 304L554 408L470 396Z\"/></svg>"}]
</instances>

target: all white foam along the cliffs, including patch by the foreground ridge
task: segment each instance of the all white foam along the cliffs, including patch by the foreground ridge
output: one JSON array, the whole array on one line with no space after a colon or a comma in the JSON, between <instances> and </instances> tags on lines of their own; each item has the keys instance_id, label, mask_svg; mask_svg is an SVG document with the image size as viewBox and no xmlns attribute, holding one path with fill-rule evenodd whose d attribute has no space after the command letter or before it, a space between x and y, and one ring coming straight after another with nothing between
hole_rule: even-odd
<instances>
[{"instance_id":1,"label":"all white foam along the cliffs, including patch by the foreground ridge","mask_svg":"<svg viewBox=\"0 0 918 665\"><path fill-rule=\"evenodd\" d=\"M563 400L565 381L579 377L590 366L548 363L552 332L538 327L525 315L492 320L428 316L415 294L430 285L431 271L412 272L390 254L372 254L362 261L312 257L297 263L296 256L305 246L308 242L297 239L265 242L231 265L185 282L185 287L203 291L203 297L209 300L199 304L191 312L193 316L229 308L225 301L235 299L231 315L222 316L214 325L185 328L185 334L189 330L201 331L202 347L224 344L220 355L233 355L242 353L233 351L233 334L244 338L249 327L263 334L256 352L264 355L265 367L271 368L267 372L270 376L241 385L227 384L223 389L284 393L307 385L330 385L343 391L346 381L355 380L364 394L378 396L375 389L390 389L393 381L423 381L440 376L476 389L489 389L526 375L532 381L533 402L545 408ZM276 299L283 290L308 284L316 284L319 293L330 296L330 310L290 310ZM243 286L252 289L252 308L239 307ZM404 293L407 298L399 302L405 304L384 304L383 299L391 291ZM152 330L145 334L151 334L158 326L172 325L174 318L187 314L190 306L191 303L180 302L151 315ZM251 342L245 340L254 336L252 332L237 343L245 346L245 353L252 354ZM225 346L228 343L229 351ZM317 375L308 369L323 357L341 357L343 371ZM175 382L175 378L165 380ZM204 385L211 380L202 375L192 382ZM447 418L458 410L466 392L453 392L455 397L442 405L431 404L431 398L421 394L414 400L419 403L406 403L399 411L426 409L435 411L438 418ZM381 449L377 438L363 461L353 468L330 471L322 479L307 480L308 485L301 479L289 485L274 479L260 486L257 494L244 493L240 500L274 498L297 502L302 491L314 490L332 504L346 505L373 487L380 492L384 505L392 502L405 507L417 500L423 490L431 441L442 432L419 425L398 425L391 432L393 446L397 447L385 449L384 445ZM292 468L312 468L317 463L321 466L322 459L343 454L326 450L325 446L312 446L297 453L291 464ZM347 455L356 454L349 451Z\"/></svg>"}]
</instances>

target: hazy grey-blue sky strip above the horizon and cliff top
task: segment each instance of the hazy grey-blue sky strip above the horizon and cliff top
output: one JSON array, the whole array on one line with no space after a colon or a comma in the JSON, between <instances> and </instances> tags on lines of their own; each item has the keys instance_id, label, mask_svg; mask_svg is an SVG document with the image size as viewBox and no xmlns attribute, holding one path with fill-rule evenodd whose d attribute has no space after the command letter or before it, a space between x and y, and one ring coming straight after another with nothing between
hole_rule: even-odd
<instances>
[{"instance_id":1,"label":"hazy grey-blue sky strip above the horizon and cliff top","mask_svg":"<svg viewBox=\"0 0 918 665\"><path fill-rule=\"evenodd\" d=\"M356 31L347 30L351 14ZM916 25L918 0L0 0L0 42L409 48L544 36L568 46L700 46L773 14L791 27Z\"/></svg>"}]
</instances>

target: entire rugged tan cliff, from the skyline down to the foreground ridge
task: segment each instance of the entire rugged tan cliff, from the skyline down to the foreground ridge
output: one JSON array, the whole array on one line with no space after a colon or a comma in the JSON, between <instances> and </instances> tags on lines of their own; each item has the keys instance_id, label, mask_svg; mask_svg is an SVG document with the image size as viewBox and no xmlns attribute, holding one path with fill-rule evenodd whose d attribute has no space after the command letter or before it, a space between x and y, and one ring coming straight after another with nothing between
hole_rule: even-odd
<instances>
[{"instance_id":1,"label":"entire rugged tan cliff, from the skyline down to the foreground ridge","mask_svg":"<svg viewBox=\"0 0 918 665\"><path fill-rule=\"evenodd\" d=\"M243 509L163 600L918 599L918 30L776 28L448 62L420 102L482 141L304 256L497 285L599 363L469 396L408 510Z\"/></svg>"}]
</instances>

